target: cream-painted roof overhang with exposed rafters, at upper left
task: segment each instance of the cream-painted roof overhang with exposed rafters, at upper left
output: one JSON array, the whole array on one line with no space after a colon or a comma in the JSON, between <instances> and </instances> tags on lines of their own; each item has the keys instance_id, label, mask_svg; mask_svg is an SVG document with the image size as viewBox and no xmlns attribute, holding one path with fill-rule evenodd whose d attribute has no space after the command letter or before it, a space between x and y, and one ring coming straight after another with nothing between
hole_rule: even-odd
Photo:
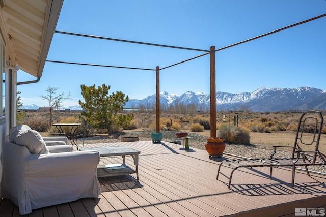
<instances>
[{"instance_id":1,"label":"cream-painted roof overhang with exposed rafters, at upper left","mask_svg":"<svg viewBox=\"0 0 326 217\"><path fill-rule=\"evenodd\" d=\"M0 0L0 27L11 64L41 77L63 0Z\"/></svg>"}]
</instances>

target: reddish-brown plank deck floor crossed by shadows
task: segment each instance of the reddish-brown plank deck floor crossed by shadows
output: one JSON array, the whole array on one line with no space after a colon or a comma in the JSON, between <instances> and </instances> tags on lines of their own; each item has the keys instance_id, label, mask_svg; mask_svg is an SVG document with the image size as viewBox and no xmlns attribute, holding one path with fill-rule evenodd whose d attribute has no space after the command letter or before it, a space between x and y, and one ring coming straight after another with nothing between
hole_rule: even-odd
<instances>
[{"instance_id":1,"label":"reddish-brown plank deck floor crossed by shadows","mask_svg":"<svg viewBox=\"0 0 326 217\"><path fill-rule=\"evenodd\" d=\"M182 145L151 141L99 143L85 147L129 146L141 151L139 182L135 174L99 178L99 198L33 210L28 216L294 216L295 208L326 208L326 177L308 177L298 171L294 189L291 170L277 168L273 179L268 168L234 172L231 190L219 163L227 158L209 158L205 150L182 150ZM180 149L181 148L181 149ZM121 163L121 157L103 159ZM126 164L134 168L133 159ZM229 175L231 170L222 167ZM20 216L10 200L0 204L0 216Z\"/></svg>"}]
</instances>

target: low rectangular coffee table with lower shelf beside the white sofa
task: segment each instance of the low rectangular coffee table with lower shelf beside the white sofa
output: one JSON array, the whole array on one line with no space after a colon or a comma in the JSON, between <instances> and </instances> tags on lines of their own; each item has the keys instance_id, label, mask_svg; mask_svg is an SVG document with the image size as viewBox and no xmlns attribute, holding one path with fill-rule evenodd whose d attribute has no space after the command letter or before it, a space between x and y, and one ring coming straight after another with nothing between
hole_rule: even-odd
<instances>
[{"instance_id":1,"label":"low rectangular coffee table with lower shelf beside the white sofa","mask_svg":"<svg viewBox=\"0 0 326 217\"><path fill-rule=\"evenodd\" d=\"M112 156L122 156L123 164L107 164L97 166L97 177L108 177L108 176L118 176L136 173L137 181L138 177L138 156L141 153L139 150L127 146L112 146L112 147L96 147L96 148L82 148L80 151L84 150L97 150L100 157L112 157ZM136 167L135 170L130 168L125 164L125 156L130 155L133 158L133 163Z\"/></svg>"}]
</instances>

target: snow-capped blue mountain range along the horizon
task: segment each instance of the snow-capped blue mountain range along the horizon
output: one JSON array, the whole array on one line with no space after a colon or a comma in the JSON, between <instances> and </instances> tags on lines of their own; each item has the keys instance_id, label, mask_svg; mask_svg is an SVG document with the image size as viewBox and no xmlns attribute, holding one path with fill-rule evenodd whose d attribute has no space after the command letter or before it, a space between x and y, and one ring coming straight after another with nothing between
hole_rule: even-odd
<instances>
[{"instance_id":1,"label":"snow-capped blue mountain range along the horizon","mask_svg":"<svg viewBox=\"0 0 326 217\"><path fill-rule=\"evenodd\" d=\"M125 108L153 108L156 103L156 95L150 95L142 100L131 99ZM179 105L194 104L198 110L206 111L210 107L209 94L187 91L184 94L160 93L160 104ZM288 110L326 110L326 90L312 87L298 88L267 88L261 87L253 92L241 92L231 94L228 92L216 92L216 110L246 108L255 112L276 112ZM23 106L23 109L38 109L37 105ZM81 110L79 105L68 107L70 110Z\"/></svg>"}]
</instances>

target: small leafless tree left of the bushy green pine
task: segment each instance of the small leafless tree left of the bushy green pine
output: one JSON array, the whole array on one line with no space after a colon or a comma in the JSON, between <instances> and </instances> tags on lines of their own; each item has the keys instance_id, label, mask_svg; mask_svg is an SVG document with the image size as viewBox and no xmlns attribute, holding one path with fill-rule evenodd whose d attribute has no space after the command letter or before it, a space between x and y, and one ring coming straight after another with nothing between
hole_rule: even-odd
<instances>
[{"instance_id":1,"label":"small leafless tree left of the bushy green pine","mask_svg":"<svg viewBox=\"0 0 326 217\"><path fill-rule=\"evenodd\" d=\"M69 92L69 94L67 96L65 96L64 92L62 92L62 94L56 95L58 89L59 89L59 87L47 87L45 91L48 92L48 94L45 95L45 96L40 95L40 97L42 97L43 100L46 100L49 103L50 120L52 120L52 111L53 111L53 109L62 107L61 103L64 100L67 100L67 99L71 100L70 92Z\"/></svg>"}]
</instances>

